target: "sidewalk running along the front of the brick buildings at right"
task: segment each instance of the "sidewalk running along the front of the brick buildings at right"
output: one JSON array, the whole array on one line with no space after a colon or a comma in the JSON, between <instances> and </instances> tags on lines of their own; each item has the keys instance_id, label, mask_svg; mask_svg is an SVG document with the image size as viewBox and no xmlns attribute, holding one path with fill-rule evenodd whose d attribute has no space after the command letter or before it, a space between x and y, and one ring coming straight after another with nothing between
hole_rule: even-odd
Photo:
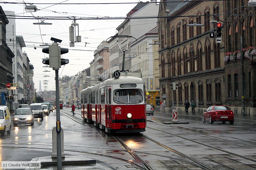
<instances>
[{"instance_id":1,"label":"sidewalk running along the front of the brick buildings at right","mask_svg":"<svg viewBox=\"0 0 256 170\"><path fill-rule=\"evenodd\" d=\"M172 112L167 112L167 111L154 111L154 113L160 113L160 114L172 114ZM177 114L180 116L195 116L195 117L201 117L203 114L201 113L194 113L192 114L191 112L191 108L189 108L189 113L186 114L185 112L178 112ZM238 115L238 114L234 114L234 118L235 120L250 120L252 122L256 122L256 116L242 116L242 115Z\"/></svg>"}]
</instances>

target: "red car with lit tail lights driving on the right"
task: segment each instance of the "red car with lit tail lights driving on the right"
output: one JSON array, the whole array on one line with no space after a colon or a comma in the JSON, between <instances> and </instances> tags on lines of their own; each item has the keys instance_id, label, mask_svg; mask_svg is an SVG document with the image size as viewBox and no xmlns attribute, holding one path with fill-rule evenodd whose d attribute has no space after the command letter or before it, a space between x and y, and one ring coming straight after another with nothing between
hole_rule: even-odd
<instances>
[{"instance_id":1,"label":"red car with lit tail lights driving on the right","mask_svg":"<svg viewBox=\"0 0 256 170\"><path fill-rule=\"evenodd\" d=\"M234 124L234 113L227 106L210 106L207 110L204 110L202 122L206 121L213 124L213 122L225 123L228 121L230 124Z\"/></svg>"}]
</instances>

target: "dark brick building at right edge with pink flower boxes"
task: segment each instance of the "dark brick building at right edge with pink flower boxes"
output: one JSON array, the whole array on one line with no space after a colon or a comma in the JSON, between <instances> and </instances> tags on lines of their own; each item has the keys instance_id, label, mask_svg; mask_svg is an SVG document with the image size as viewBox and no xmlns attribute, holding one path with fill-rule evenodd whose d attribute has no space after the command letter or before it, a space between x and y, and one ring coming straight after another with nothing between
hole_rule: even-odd
<instances>
[{"instance_id":1,"label":"dark brick building at right edge with pink flower boxes","mask_svg":"<svg viewBox=\"0 0 256 170\"><path fill-rule=\"evenodd\" d=\"M244 86L245 115L256 115L256 49L255 49L255 7L249 7L249 0L224 1L224 45L225 51L225 100L235 114L241 114L241 37L245 52ZM239 15L238 15L239 14ZM254 56L249 49L254 47ZM240 50L240 51L239 51ZM253 50L253 48L251 48Z\"/></svg>"}]
</instances>

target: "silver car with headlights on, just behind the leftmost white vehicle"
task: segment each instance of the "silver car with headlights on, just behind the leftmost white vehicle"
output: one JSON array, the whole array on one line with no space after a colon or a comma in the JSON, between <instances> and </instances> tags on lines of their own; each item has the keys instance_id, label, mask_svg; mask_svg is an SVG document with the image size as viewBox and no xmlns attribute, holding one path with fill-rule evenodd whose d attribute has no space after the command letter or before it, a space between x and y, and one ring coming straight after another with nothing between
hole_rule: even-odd
<instances>
[{"instance_id":1,"label":"silver car with headlights on, just behind the leftmost white vehicle","mask_svg":"<svg viewBox=\"0 0 256 170\"><path fill-rule=\"evenodd\" d=\"M31 124L34 125L34 113L30 108L18 108L13 114L13 126L17 124Z\"/></svg>"}]
</instances>

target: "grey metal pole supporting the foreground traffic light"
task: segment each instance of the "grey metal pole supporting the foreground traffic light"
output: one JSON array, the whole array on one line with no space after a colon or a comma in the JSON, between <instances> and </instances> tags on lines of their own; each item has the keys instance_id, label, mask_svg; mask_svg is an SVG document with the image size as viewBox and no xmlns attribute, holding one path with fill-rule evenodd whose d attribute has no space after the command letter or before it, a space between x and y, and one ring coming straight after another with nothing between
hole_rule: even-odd
<instances>
[{"instance_id":1,"label":"grey metal pole supporting the foreground traffic light","mask_svg":"<svg viewBox=\"0 0 256 170\"><path fill-rule=\"evenodd\" d=\"M60 121L59 113L59 70L55 70L56 83L56 121ZM57 170L62 170L61 164L61 132L57 132Z\"/></svg>"}]
</instances>

